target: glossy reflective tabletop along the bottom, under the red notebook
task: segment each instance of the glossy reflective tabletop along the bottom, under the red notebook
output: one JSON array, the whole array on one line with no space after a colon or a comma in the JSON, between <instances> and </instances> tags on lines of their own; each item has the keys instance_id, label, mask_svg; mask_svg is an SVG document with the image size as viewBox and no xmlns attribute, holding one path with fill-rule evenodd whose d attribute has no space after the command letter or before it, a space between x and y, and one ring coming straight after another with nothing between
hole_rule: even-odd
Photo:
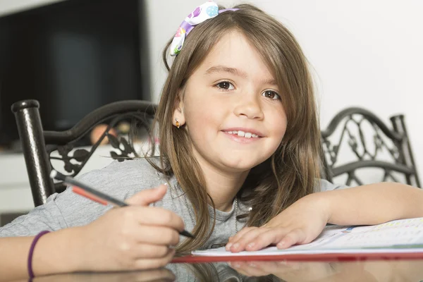
<instances>
[{"instance_id":1,"label":"glossy reflective tabletop along the bottom, under the red notebook","mask_svg":"<svg viewBox=\"0 0 423 282\"><path fill-rule=\"evenodd\" d=\"M251 276L257 276L252 278ZM51 281L422 281L423 259L175 263L164 269L37 277ZM27 281L27 280L25 280Z\"/></svg>"}]
</instances>

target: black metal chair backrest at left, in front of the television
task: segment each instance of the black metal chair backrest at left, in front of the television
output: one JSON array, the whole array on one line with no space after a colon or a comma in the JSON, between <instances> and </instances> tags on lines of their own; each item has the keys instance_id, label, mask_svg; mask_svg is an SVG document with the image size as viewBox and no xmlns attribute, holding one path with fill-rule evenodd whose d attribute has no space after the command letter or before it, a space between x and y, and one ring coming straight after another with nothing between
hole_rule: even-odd
<instances>
[{"instance_id":1,"label":"black metal chair backrest at left, in front of the television","mask_svg":"<svg viewBox=\"0 0 423 282\"><path fill-rule=\"evenodd\" d=\"M18 125L18 133L23 148L23 156L30 180L32 197L35 207L44 204L54 192L60 192L65 185L54 183L49 174L51 172L51 159L63 162L63 168L68 176L76 176L85 166L100 142L107 137L111 146L120 154L111 152L111 157L122 161L136 157L137 152L133 146L133 130L129 135L115 137L109 133L121 121L128 121L134 126L143 127L149 133L155 104L140 100L125 100L107 104L87 114L73 128L66 131L46 131L42 128L39 116L39 102L25 100L12 105ZM94 126L106 123L108 126L99 140L90 149L74 149L78 142L90 134ZM153 147L154 149L154 147ZM60 157L52 157L51 153L59 153Z\"/></svg>"}]
</instances>

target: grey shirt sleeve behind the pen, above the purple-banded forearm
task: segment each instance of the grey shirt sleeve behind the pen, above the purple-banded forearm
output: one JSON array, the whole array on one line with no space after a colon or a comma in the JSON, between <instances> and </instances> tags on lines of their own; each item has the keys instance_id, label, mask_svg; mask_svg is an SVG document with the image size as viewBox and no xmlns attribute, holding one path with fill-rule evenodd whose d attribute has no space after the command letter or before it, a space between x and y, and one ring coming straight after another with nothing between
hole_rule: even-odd
<instances>
[{"instance_id":1,"label":"grey shirt sleeve behind the pen, above the purple-banded forearm","mask_svg":"<svg viewBox=\"0 0 423 282\"><path fill-rule=\"evenodd\" d=\"M154 168L147 161L114 161L100 170L90 171L78 179L107 195L125 200L145 188L158 184ZM111 206L104 206L72 192L70 188L51 195L47 203L33 209L0 228L0 237L30 236L39 231L57 231L84 226L102 216Z\"/></svg>"}]
</instances>

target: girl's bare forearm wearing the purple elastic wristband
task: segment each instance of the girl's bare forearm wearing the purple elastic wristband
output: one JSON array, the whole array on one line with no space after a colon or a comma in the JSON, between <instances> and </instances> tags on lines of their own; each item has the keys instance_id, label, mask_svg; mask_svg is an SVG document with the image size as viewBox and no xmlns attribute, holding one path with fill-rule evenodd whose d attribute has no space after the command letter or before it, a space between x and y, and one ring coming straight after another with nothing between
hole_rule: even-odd
<instances>
[{"instance_id":1,"label":"girl's bare forearm wearing the purple elastic wristband","mask_svg":"<svg viewBox=\"0 0 423 282\"><path fill-rule=\"evenodd\" d=\"M43 235L35 245L35 276L78 270L78 228ZM0 281L27 278L27 258L34 237L0 238Z\"/></svg>"}]
</instances>

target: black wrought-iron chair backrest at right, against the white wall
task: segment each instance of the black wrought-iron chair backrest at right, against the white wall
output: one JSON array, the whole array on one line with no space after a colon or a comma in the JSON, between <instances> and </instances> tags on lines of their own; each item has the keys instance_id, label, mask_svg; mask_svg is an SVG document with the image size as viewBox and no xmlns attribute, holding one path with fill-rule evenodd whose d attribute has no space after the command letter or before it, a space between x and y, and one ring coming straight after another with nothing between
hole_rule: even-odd
<instances>
[{"instance_id":1,"label":"black wrought-iron chair backrest at right, against the white wall","mask_svg":"<svg viewBox=\"0 0 423 282\"><path fill-rule=\"evenodd\" d=\"M326 179L346 185L390 181L420 188L404 116L390 119L391 128L362 108L336 114L321 131Z\"/></svg>"}]
</instances>

